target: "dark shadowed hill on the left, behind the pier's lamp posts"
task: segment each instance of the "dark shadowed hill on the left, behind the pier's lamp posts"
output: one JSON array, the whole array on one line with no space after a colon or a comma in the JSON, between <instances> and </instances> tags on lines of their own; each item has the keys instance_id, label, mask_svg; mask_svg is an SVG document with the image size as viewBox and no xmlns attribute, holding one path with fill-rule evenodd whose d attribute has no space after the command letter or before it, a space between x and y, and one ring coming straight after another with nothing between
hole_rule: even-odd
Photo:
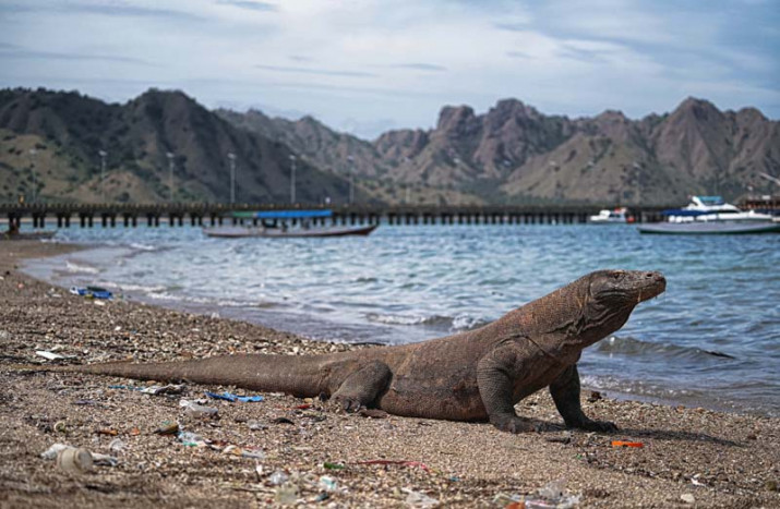
<instances>
[{"instance_id":1,"label":"dark shadowed hill on the left, behind the pier's lamp posts","mask_svg":"<svg viewBox=\"0 0 780 509\"><path fill-rule=\"evenodd\" d=\"M228 153L237 160L236 201L289 201L292 150L238 129L180 92L148 90L124 105L77 93L0 92L0 196L103 199L105 150L108 201L171 199L168 153L173 154L173 201L228 202ZM344 201L348 182L305 160L297 162L297 198ZM361 195L359 195L361 196ZM365 199L365 196L361 196Z\"/></svg>"}]
</instances>

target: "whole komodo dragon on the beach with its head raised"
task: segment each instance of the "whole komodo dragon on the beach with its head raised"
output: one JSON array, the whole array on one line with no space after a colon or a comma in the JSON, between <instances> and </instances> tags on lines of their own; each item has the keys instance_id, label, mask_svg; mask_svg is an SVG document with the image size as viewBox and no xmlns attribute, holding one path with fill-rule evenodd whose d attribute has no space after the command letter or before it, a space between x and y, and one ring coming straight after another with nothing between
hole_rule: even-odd
<instances>
[{"instance_id":1,"label":"whole komodo dragon on the beach with its head raised","mask_svg":"<svg viewBox=\"0 0 780 509\"><path fill-rule=\"evenodd\" d=\"M329 396L348 411L452 421L489 420L511 433L536 427L515 404L550 387L568 427L609 432L579 401L577 361L613 334L634 306L664 291L659 272L600 270L476 330L397 347L324 355L240 354L151 364L107 363L62 371L136 379L233 385L297 397Z\"/></svg>"}]
</instances>

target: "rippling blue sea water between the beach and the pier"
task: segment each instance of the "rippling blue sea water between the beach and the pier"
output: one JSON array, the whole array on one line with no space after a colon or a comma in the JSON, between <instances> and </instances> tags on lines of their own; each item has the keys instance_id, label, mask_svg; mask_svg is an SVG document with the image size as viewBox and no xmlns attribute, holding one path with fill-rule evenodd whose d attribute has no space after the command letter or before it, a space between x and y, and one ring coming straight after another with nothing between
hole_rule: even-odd
<instances>
[{"instance_id":1,"label":"rippling blue sea water between the beach and the pier","mask_svg":"<svg viewBox=\"0 0 780 509\"><path fill-rule=\"evenodd\" d=\"M31 274L347 342L422 341L484 325L592 270L660 270L667 292L585 351L584 384L780 415L780 235L385 225L368 238L226 240L142 227L56 239L97 247L36 262Z\"/></svg>"}]
</instances>

